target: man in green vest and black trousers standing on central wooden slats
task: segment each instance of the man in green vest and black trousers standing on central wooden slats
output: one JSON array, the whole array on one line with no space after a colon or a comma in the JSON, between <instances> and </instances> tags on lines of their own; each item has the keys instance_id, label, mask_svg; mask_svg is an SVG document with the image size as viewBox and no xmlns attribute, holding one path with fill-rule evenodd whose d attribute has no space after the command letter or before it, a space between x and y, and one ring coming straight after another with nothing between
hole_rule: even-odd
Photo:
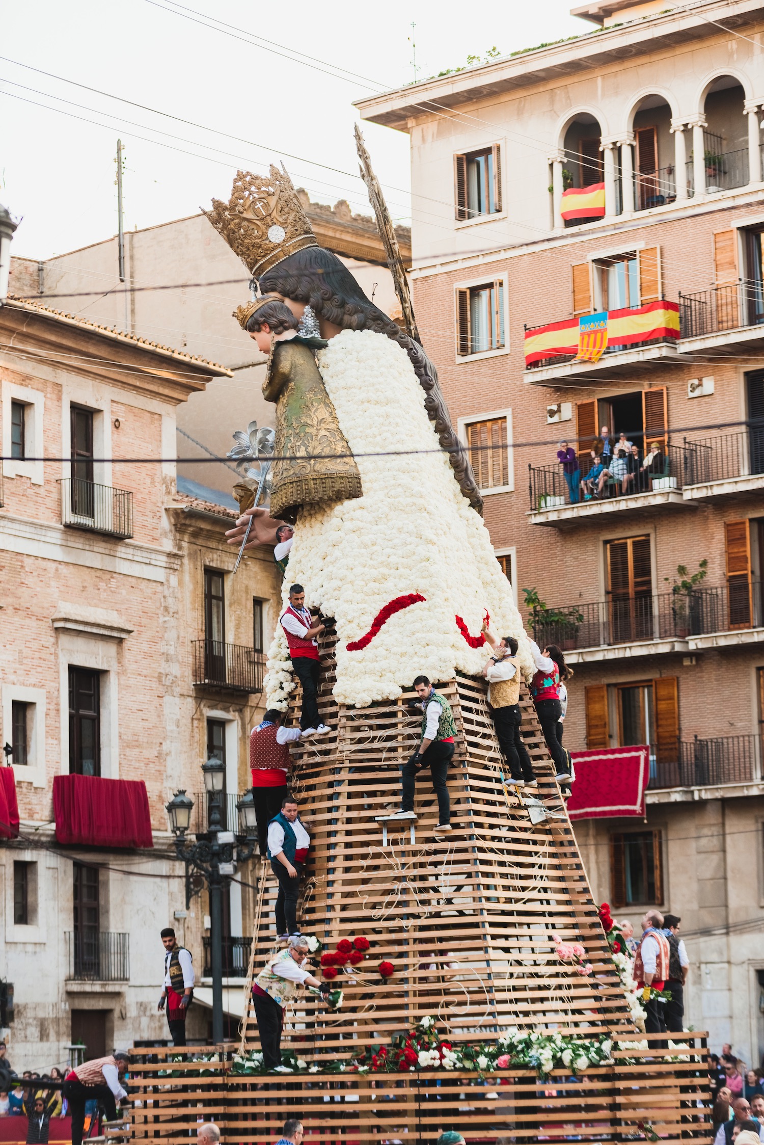
<instances>
[{"instance_id":1,"label":"man in green vest and black trousers standing on central wooden slats","mask_svg":"<svg viewBox=\"0 0 764 1145\"><path fill-rule=\"evenodd\" d=\"M414 680L414 690L419 696L414 701L416 708L422 710L422 739L420 745L403 769L403 792L401 810L391 815L391 819L416 819L414 813L414 791L416 790L416 776L425 768L430 768L432 779L432 790L438 797L438 826L436 835L451 830L451 799L446 780L448 777L448 765L454 755L454 740L456 737L456 725L451 710L451 704L445 696L439 695L427 676L417 676Z\"/></svg>"}]
</instances>

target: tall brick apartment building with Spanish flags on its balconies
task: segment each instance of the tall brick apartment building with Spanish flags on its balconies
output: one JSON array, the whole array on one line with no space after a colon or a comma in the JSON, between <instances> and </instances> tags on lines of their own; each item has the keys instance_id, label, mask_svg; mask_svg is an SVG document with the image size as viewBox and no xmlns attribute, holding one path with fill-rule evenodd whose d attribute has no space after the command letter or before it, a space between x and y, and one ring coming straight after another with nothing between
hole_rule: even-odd
<instances>
[{"instance_id":1,"label":"tall brick apartment building with Spanish flags on its balconies","mask_svg":"<svg viewBox=\"0 0 764 1145\"><path fill-rule=\"evenodd\" d=\"M594 893L637 932L682 916L685 1020L757 1065L764 6L574 14L592 31L358 106L411 135L419 327L528 627L574 669L566 745L650 744L646 821L576 824ZM636 461L587 499L603 426Z\"/></svg>"}]
</instances>

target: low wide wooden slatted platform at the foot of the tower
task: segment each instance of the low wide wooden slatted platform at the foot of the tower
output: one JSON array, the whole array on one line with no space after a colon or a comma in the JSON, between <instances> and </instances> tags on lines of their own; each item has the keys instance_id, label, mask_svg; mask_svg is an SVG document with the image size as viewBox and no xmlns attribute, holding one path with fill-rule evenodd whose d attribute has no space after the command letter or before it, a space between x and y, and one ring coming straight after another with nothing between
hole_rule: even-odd
<instances>
[{"instance_id":1,"label":"low wide wooden slatted platform at the foot of the tower","mask_svg":"<svg viewBox=\"0 0 764 1145\"><path fill-rule=\"evenodd\" d=\"M272 1145L286 1118L300 1118L305 1140L318 1145L432 1145L457 1129L469 1145L535 1142L644 1140L666 1145L710 1142L705 1035L684 1048L650 1048L635 1057L623 1035L614 1064L574 1077L556 1071L540 1081L528 1071L477 1074L312 1074L241 1077L231 1074L233 1048L134 1050L130 1092L140 1100L133 1139L182 1145L197 1122L214 1121L226 1143ZM643 1051L644 1052L644 1051ZM669 1055L671 1060L668 1060ZM180 1059L180 1060L178 1060Z\"/></svg>"}]
</instances>

